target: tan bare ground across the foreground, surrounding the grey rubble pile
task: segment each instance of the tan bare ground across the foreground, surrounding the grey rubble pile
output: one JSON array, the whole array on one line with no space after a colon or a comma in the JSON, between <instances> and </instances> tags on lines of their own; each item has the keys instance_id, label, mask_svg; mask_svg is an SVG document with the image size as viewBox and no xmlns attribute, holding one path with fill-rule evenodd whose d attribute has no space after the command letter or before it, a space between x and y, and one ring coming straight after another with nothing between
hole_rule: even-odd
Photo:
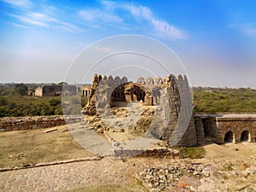
<instances>
[{"instance_id":1,"label":"tan bare ground across the foreground, surrounding the grey rubble pile","mask_svg":"<svg viewBox=\"0 0 256 192\"><path fill-rule=\"evenodd\" d=\"M73 141L66 126L56 128L49 133L1 132L1 167L94 156ZM166 191L256 191L256 143L211 144L204 148L205 158L199 160L103 158L0 172L0 191L149 191L147 183L138 179L147 167L194 164L202 167L199 186Z\"/></svg>"}]
</instances>

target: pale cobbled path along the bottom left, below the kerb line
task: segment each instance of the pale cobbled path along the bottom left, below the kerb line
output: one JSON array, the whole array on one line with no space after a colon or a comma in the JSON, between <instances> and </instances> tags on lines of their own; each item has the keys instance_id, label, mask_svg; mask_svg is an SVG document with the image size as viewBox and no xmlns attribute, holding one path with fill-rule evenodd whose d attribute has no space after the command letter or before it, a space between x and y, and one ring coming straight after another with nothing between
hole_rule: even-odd
<instances>
[{"instance_id":1,"label":"pale cobbled path along the bottom left, below the kerb line","mask_svg":"<svg viewBox=\"0 0 256 192\"><path fill-rule=\"evenodd\" d=\"M122 160L102 159L0 172L0 191L63 191L90 185L132 183L135 169Z\"/></svg>"}]
</instances>

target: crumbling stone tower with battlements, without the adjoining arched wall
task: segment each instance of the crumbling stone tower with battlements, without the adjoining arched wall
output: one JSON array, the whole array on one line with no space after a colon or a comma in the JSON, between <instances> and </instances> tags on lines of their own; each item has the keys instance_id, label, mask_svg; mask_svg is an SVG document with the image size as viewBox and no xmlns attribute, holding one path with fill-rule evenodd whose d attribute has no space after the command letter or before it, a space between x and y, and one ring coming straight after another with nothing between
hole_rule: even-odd
<instances>
[{"instance_id":1,"label":"crumbling stone tower with battlements, without the adjoining arched wall","mask_svg":"<svg viewBox=\"0 0 256 192\"><path fill-rule=\"evenodd\" d=\"M185 76L140 77L137 83L132 83L125 77L113 79L112 76L94 75L84 113L109 117L114 102L142 102L145 106L155 106L149 137L165 140L170 146L188 147L197 143L192 97Z\"/></svg>"}]
</instances>

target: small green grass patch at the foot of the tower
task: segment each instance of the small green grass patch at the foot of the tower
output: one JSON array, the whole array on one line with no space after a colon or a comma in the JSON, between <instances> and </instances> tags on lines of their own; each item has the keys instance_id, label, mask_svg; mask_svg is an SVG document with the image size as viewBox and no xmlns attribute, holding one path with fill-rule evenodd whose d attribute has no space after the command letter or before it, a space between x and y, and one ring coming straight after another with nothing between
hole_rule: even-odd
<instances>
[{"instance_id":1,"label":"small green grass patch at the foot of the tower","mask_svg":"<svg viewBox=\"0 0 256 192\"><path fill-rule=\"evenodd\" d=\"M189 159L201 159L204 158L206 154L205 148L202 147L191 147L191 148L183 148L183 147L176 147L179 151L179 158L189 158Z\"/></svg>"}]
</instances>

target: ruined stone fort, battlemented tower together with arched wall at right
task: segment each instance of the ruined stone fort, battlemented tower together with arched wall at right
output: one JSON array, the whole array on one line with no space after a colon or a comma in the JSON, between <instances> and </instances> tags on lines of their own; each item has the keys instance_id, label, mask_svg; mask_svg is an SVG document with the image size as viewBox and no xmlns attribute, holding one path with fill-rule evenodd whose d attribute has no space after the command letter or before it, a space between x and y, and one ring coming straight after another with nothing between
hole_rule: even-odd
<instances>
[{"instance_id":1,"label":"ruined stone fort, battlemented tower together with arched wall at right","mask_svg":"<svg viewBox=\"0 0 256 192\"><path fill-rule=\"evenodd\" d=\"M125 77L96 74L91 86L84 87L83 91L89 96L83 108L85 115L106 118L119 102L154 106L154 120L148 134L171 146L189 147L208 142L255 143L256 114L194 114L188 80L182 75L175 77L171 74L164 79L140 77L133 83Z\"/></svg>"}]
</instances>

